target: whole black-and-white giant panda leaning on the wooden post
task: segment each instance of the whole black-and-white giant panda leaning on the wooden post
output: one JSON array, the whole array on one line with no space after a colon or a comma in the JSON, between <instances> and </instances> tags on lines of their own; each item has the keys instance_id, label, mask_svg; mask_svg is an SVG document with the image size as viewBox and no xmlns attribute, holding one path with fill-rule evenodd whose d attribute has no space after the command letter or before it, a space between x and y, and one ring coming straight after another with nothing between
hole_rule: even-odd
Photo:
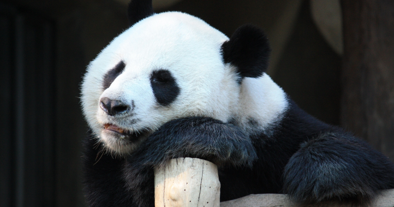
<instances>
[{"instance_id":1,"label":"whole black-and-white giant panda leaning on the wooden post","mask_svg":"<svg viewBox=\"0 0 394 207\"><path fill-rule=\"evenodd\" d=\"M91 207L153 207L154 169L179 157L218 165L221 201L286 193L367 205L394 188L387 157L301 110L265 73L259 28L228 38L189 14L156 14L150 0L132 0L129 19L81 85Z\"/></svg>"}]
</instances>

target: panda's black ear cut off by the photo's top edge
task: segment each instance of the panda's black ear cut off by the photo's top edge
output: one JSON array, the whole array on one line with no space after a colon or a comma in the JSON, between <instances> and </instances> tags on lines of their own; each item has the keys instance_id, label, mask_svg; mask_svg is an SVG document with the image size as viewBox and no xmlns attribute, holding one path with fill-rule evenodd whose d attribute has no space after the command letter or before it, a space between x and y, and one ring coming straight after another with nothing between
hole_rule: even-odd
<instances>
[{"instance_id":1,"label":"panda's black ear cut off by the photo's top edge","mask_svg":"<svg viewBox=\"0 0 394 207\"><path fill-rule=\"evenodd\" d=\"M127 11L130 26L146 17L152 16L154 13L152 0L131 0Z\"/></svg>"}]
</instances>

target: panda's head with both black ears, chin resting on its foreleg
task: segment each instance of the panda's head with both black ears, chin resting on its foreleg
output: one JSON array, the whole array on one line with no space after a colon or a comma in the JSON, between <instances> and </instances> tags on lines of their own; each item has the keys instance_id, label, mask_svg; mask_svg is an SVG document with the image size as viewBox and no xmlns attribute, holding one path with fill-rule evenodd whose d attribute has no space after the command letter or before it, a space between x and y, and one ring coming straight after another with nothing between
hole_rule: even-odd
<instances>
[{"instance_id":1,"label":"panda's head with both black ears, chin resting on its foreleg","mask_svg":"<svg viewBox=\"0 0 394 207\"><path fill-rule=\"evenodd\" d=\"M155 14L143 0L131 1L129 18L131 28L90 63L82 83L85 118L111 153L131 153L172 119L227 122L240 107L242 79L267 67L268 42L256 27L229 39L189 14Z\"/></svg>"}]
</instances>

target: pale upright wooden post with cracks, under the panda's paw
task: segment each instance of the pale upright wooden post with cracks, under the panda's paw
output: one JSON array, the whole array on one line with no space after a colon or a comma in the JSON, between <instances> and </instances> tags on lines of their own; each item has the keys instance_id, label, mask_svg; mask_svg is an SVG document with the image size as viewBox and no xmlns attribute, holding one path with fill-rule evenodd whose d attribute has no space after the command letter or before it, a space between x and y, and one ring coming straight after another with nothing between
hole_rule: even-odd
<instances>
[{"instance_id":1,"label":"pale upright wooden post with cracks, under the panda's paw","mask_svg":"<svg viewBox=\"0 0 394 207\"><path fill-rule=\"evenodd\" d=\"M172 159L155 169L155 207L219 207L215 164L197 158Z\"/></svg>"}]
</instances>

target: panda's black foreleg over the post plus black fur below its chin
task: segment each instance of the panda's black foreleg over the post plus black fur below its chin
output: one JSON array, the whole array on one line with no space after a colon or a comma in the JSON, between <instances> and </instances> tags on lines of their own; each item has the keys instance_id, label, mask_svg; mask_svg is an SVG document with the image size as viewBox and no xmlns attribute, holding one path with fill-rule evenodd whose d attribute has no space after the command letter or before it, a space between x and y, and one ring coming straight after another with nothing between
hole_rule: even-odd
<instances>
[{"instance_id":1,"label":"panda's black foreleg over the post plus black fur below its chin","mask_svg":"<svg viewBox=\"0 0 394 207\"><path fill-rule=\"evenodd\" d=\"M256 159L251 140L239 128L205 117L164 124L123 159L104 154L92 138L85 149L85 190L92 207L153 207L153 168L172 158L195 157L232 168Z\"/></svg>"}]
</instances>

